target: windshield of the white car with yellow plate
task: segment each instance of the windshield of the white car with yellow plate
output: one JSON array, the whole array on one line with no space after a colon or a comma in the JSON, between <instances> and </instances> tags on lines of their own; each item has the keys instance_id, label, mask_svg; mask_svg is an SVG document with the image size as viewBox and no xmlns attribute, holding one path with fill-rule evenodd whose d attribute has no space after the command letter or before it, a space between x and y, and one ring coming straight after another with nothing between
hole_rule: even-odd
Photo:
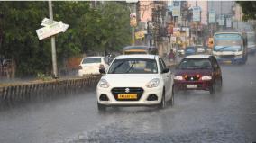
<instances>
[{"instance_id":1,"label":"windshield of the white car with yellow plate","mask_svg":"<svg viewBox=\"0 0 256 143\"><path fill-rule=\"evenodd\" d=\"M156 74L158 67L155 59L116 59L108 74Z\"/></svg>"}]
</instances>

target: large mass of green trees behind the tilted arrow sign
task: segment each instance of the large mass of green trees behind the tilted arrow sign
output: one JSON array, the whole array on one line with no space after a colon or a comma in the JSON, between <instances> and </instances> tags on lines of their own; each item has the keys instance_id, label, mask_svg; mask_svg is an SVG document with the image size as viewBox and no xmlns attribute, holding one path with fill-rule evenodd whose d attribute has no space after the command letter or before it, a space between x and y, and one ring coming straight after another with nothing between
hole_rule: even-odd
<instances>
[{"instance_id":1,"label":"large mass of green trees behind the tilted arrow sign","mask_svg":"<svg viewBox=\"0 0 256 143\"><path fill-rule=\"evenodd\" d=\"M56 36L58 64L88 51L115 51L130 41L125 4L104 2L97 11L90 2L52 2L55 21L69 24ZM36 30L49 17L48 2L0 2L0 55L13 58L18 76L50 74L50 39L38 40Z\"/></svg>"}]
</instances>

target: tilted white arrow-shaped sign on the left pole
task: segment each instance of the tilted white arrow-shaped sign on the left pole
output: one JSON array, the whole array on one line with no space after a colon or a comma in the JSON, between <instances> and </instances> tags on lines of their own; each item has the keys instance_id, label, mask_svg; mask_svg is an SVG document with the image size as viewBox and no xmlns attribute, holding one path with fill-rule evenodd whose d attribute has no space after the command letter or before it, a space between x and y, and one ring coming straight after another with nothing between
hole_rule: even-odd
<instances>
[{"instance_id":1,"label":"tilted white arrow-shaped sign on the left pole","mask_svg":"<svg viewBox=\"0 0 256 143\"><path fill-rule=\"evenodd\" d=\"M48 38L52 35L56 35L59 32L64 32L68 29L69 25L64 24L63 22L55 22L51 25L45 26L41 29L36 30L37 36L39 40L43 40Z\"/></svg>"}]
</instances>

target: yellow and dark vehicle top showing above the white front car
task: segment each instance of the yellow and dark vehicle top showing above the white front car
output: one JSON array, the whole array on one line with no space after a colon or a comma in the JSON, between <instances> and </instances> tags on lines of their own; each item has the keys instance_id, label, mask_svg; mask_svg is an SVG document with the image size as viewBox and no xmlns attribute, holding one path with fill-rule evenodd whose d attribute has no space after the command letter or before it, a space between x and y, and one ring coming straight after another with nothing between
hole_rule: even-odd
<instances>
[{"instance_id":1,"label":"yellow and dark vehicle top showing above the white front car","mask_svg":"<svg viewBox=\"0 0 256 143\"><path fill-rule=\"evenodd\" d=\"M127 46L123 48L123 55L151 54L157 55L158 49L154 46Z\"/></svg>"}]
</instances>

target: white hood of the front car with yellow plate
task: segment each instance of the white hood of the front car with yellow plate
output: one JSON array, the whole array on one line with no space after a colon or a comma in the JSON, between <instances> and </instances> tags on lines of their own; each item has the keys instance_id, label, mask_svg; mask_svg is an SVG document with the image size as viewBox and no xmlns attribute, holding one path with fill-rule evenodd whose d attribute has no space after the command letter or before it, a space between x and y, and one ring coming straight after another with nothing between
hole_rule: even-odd
<instances>
[{"instance_id":1,"label":"white hood of the front car with yellow plate","mask_svg":"<svg viewBox=\"0 0 256 143\"><path fill-rule=\"evenodd\" d=\"M137 87L148 84L157 74L107 74L102 77L112 87Z\"/></svg>"}]
</instances>

